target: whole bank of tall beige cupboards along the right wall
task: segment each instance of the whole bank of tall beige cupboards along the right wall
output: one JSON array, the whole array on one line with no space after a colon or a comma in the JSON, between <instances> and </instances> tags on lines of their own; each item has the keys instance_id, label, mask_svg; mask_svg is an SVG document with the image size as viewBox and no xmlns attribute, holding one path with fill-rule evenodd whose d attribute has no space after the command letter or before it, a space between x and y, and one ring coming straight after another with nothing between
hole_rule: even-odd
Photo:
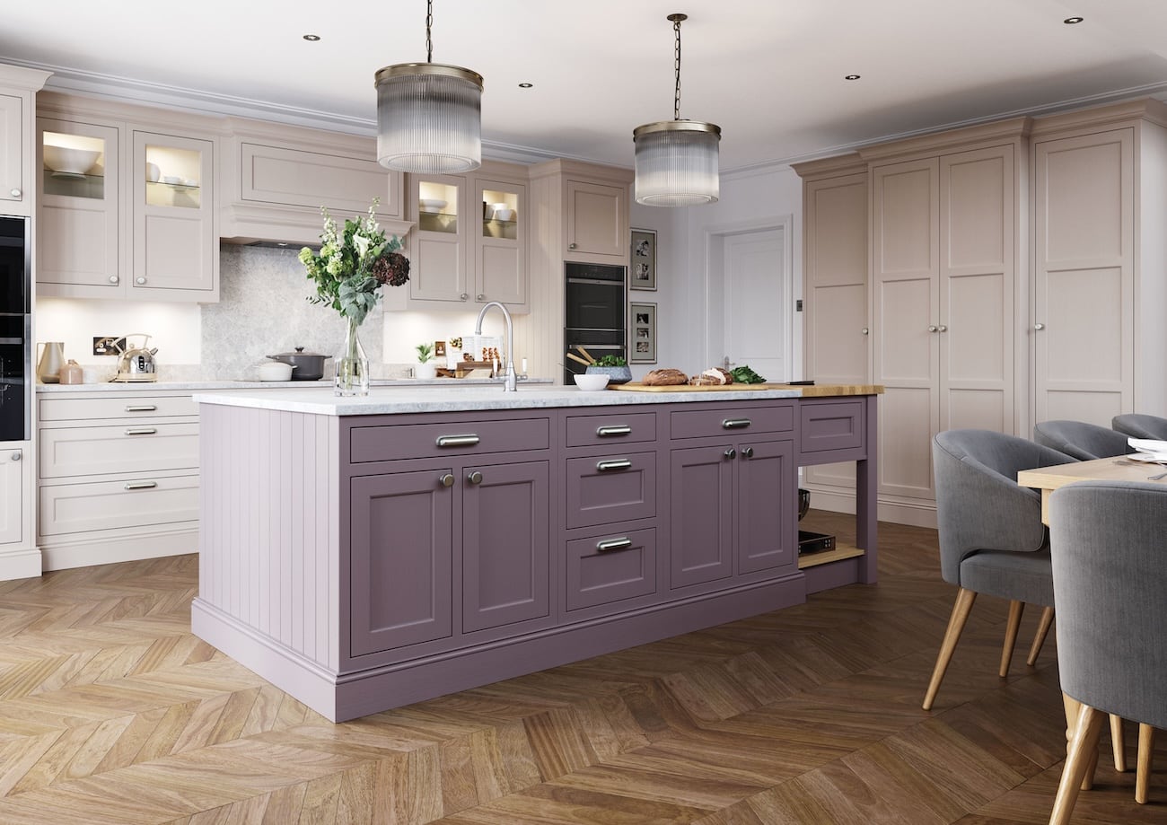
<instances>
[{"instance_id":1,"label":"whole bank of tall beige cupboards along the right wall","mask_svg":"<svg viewBox=\"0 0 1167 825\"><path fill-rule=\"evenodd\" d=\"M1165 126L1167 107L1137 100L796 167L806 375L833 379L866 357L867 375L851 379L886 387L882 518L935 518L937 431L1028 436L1048 419L1109 425L1120 412L1167 415ZM862 230L853 205L860 190ZM862 280L847 252L860 238ZM840 281L830 261L847 254L850 275ZM845 307L826 298L840 286L866 298L866 341L848 331L854 296ZM839 492L831 478L808 482Z\"/></svg>"}]
</instances>

